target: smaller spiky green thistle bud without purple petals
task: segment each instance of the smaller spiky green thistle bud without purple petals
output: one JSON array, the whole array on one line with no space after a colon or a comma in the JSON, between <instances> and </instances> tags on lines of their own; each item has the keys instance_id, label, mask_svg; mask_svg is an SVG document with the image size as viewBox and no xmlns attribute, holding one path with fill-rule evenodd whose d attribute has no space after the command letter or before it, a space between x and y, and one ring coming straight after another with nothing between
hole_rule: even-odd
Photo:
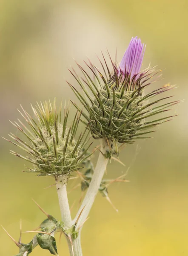
<instances>
[{"instance_id":1,"label":"smaller spiky green thistle bud without purple petals","mask_svg":"<svg viewBox=\"0 0 188 256\"><path fill-rule=\"evenodd\" d=\"M37 172L45 176L52 175L57 178L60 175L70 175L71 172L82 168L81 164L85 161L85 153L89 148L86 146L89 132L85 129L79 139L75 140L80 122L78 111L71 127L68 128L69 111L68 109L64 111L64 119L61 122L61 108L59 111L56 110L55 100L37 104L36 108L32 107L35 118L32 118L23 108L22 110L23 113L20 113L31 129L23 125L19 119L20 124L17 122L13 124L27 137L29 143L14 134L9 136L15 141L10 141L11 143L31 155L32 158L11 151L12 154L33 163L34 168L29 168L29 172Z\"/></svg>"}]
</instances>

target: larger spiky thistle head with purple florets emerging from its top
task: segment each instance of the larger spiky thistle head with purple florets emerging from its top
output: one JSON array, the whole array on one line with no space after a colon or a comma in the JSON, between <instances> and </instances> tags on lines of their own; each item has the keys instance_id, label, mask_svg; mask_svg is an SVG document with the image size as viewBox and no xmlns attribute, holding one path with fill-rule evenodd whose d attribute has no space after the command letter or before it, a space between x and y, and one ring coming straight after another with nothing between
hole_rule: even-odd
<instances>
[{"instance_id":1,"label":"larger spiky thistle head with purple florets emerging from its top","mask_svg":"<svg viewBox=\"0 0 188 256\"><path fill-rule=\"evenodd\" d=\"M93 137L95 139L103 138L108 143L109 155L118 154L119 143L134 143L135 139L145 138L142 135L154 132L145 131L145 129L168 121L172 116L149 121L145 119L168 111L169 106L179 102L157 105L171 96L148 102L149 99L170 90L173 86L168 84L151 93L144 94L145 87L153 82L150 79L161 71L154 72L154 68L148 68L140 72L144 51L145 47L144 44L141 44L140 38L132 38L120 65L114 63L109 55L113 73L110 72L104 56L106 68L101 61L100 64L105 75L91 64L91 61L90 65L85 64L94 79L79 64L78 67L82 71L84 79L80 79L74 70L70 71L88 99L85 99L75 87L68 83L88 112L87 114L82 113L82 115L88 122ZM93 97L90 96L85 85ZM74 106L81 111L76 104Z\"/></svg>"}]
</instances>

